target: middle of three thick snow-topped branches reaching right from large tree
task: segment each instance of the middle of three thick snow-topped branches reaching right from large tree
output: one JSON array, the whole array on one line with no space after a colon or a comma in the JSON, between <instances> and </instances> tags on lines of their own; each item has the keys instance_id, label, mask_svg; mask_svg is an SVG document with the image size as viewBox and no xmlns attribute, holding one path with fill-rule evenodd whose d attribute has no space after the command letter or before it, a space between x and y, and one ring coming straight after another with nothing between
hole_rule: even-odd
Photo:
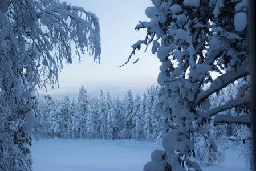
<instances>
[{"instance_id":1,"label":"middle of three thick snow-topped branches reaching right from large tree","mask_svg":"<svg viewBox=\"0 0 256 171\"><path fill-rule=\"evenodd\" d=\"M219 112L225 111L226 109L231 109L231 108L234 108L234 107L238 107L239 105L243 105L243 104L246 104L246 103L249 103L249 102L250 102L249 97L243 97L241 99L229 100L224 105L220 105L220 106L218 106L216 108L213 108L213 109L211 109L209 111L206 111L206 112L198 112L198 113L201 117L210 119L212 116L216 115Z\"/></svg>"}]
</instances>

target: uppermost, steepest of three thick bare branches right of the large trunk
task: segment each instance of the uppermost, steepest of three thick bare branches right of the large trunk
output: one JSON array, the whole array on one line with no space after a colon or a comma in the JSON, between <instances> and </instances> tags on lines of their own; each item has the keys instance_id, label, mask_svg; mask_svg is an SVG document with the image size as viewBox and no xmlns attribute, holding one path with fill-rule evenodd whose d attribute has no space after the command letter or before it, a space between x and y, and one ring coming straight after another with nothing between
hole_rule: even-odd
<instances>
[{"instance_id":1,"label":"uppermost, steepest of three thick bare branches right of the large trunk","mask_svg":"<svg viewBox=\"0 0 256 171\"><path fill-rule=\"evenodd\" d=\"M249 65L247 63L243 63L241 66L237 67L237 70L227 71L225 74L218 76L218 78L213 80L208 89L198 93L195 104L199 104L202 100L207 99L210 95L220 91L220 89L226 87L230 83L233 83L235 80L249 75L248 66Z\"/></svg>"}]
</instances>

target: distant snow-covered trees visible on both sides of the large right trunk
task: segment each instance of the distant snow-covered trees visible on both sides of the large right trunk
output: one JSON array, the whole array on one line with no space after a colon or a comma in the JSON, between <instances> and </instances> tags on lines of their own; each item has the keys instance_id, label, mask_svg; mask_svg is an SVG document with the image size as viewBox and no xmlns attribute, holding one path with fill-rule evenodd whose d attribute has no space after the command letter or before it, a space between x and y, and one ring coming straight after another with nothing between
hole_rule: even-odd
<instances>
[{"instance_id":1,"label":"distant snow-covered trees visible on both sides of the large right trunk","mask_svg":"<svg viewBox=\"0 0 256 171\"><path fill-rule=\"evenodd\" d=\"M225 104L243 93L240 79L230 84L218 94L210 96L210 108ZM120 100L111 93L101 91L100 97L90 97L82 86L77 99L70 100L67 95L61 100L44 96L39 104L39 116L34 134L48 138L72 139L137 139L162 141L162 116L155 111L162 96L160 87L152 85L135 98L129 90ZM217 100L216 100L217 99ZM206 104L205 104L206 105ZM220 115L238 116L248 113L248 107L228 109ZM177 123L168 119L169 127ZM202 131L195 132L195 159L208 165L225 162L224 152L234 143L241 145L241 155L251 160L251 132L246 124L217 124L209 120L202 125ZM208 137L207 139L205 137ZM210 147L212 142L216 149Z\"/></svg>"}]
</instances>

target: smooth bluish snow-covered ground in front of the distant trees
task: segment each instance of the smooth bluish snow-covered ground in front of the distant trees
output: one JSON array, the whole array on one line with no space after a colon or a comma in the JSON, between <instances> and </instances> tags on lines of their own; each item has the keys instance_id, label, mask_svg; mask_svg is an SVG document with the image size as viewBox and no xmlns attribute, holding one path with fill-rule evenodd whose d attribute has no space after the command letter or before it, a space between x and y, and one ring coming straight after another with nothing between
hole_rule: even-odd
<instances>
[{"instance_id":1,"label":"smooth bluish snow-covered ground in front of the distant trees","mask_svg":"<svg viewBox=\"0 0 256 171\"><path fill-rule=\"evenodd\" d=\"M143 170L154 149L161 145L134 140L42 139L32 145L35 171ZM243 171L239 148L226 152L226 164L202 167L203 170Z\"/></svg>"}]
</instances>

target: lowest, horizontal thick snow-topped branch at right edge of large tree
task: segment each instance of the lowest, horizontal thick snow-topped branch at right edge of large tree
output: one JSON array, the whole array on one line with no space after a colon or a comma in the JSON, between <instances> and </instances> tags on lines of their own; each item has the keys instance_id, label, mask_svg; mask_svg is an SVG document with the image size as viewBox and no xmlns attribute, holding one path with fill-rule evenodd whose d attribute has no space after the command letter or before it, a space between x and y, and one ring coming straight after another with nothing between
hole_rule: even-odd
<instances>
[{"instance_id":1,"label":"lowest, horizontal thick snow-topped branch at right edge of large tree","mask_svg":"<svg viewBox=\"0 0 256 171\"><path fill-rule=\"evenodd\" d=\"M250 115L217 115L214 118L214 123L227 123L227 124L250 124L251 116Z\"/></svg>"}]
</instances>

